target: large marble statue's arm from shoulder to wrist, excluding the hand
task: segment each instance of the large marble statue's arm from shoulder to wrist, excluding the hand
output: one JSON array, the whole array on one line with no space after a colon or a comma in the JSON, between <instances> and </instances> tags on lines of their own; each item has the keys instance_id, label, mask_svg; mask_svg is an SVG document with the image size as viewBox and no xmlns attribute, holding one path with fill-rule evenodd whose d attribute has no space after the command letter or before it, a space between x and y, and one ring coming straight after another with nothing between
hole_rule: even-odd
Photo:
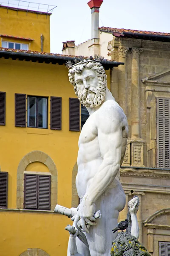
<instances>
[{"instance_id":1,"label":"large marble statue's arm from shoulder to wrist, excluding the hand","mask_svg":"<svg viewBox=\"0 0 170 256\"><path fill-rule=\"evenodd\" d=\"M119 121L119 113L105 112L103 119L98 120L98 140L102 164L93 178L84 198L96 202L116 177L122 152L122 126Z\"/></svg>"}]
</instances>

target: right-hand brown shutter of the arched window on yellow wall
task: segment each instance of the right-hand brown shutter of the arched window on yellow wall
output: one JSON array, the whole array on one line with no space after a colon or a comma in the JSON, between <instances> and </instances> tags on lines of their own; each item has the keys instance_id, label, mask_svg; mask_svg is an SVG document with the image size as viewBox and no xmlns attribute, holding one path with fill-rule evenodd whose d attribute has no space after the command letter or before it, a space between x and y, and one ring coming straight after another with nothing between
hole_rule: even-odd
<instances>
[{"instance_id":1,"label":"right-hand brown shutter of the arched window on yellow wall","mask_svg":"<svg viewBox=\"0 0 170 256\"><path fill-rule=\"evenodd\" d=\"M51 176L38 175L38 209L50 210Z\"/></svg>"}]
</instances>

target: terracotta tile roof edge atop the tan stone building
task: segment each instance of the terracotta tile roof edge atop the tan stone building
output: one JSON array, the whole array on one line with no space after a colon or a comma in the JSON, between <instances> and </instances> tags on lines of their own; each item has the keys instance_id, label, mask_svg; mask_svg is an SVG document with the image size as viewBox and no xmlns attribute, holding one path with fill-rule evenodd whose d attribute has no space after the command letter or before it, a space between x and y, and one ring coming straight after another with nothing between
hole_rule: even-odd
<instances>
[{"instance_id":1,"label":"terracotta tile roof edge atop the tan stone building","mask_svg":"<svg viewBox=\"0 0 170 256\"><path fill-rule=\"evenodd\" d=\"M170 33L162 33L162 32L153 32L153 31L145 31L145 30L133 30L133 29L117 29L117 28L110 28L110 27L100 27L99 30L106 31L106 32L131 32L131 33L139 33L139 34L148 34L148 35L166 35L170 36Z\"/></svg>"}]
</instances>

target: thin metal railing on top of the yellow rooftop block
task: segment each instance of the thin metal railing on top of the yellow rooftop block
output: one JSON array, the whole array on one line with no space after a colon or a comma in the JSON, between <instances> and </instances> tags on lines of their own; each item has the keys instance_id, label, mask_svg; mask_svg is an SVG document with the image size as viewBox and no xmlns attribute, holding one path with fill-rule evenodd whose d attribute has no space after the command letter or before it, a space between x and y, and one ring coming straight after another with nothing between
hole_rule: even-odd
<instances>
[{"instance_id":1,"label":"thin metal railing on top of the yellow rooftop block","mask_svg":"<svg viewBox=\"0 0 170 256\"><path fill-rule=\"evenodd\" d=\"M26 11L36 11L36 12L52 12L57 6L43 3L33 3L23 0L2 0L0 5L6 7L14 7L17 9L24 9Z\"/></svg>"}]
</instances>

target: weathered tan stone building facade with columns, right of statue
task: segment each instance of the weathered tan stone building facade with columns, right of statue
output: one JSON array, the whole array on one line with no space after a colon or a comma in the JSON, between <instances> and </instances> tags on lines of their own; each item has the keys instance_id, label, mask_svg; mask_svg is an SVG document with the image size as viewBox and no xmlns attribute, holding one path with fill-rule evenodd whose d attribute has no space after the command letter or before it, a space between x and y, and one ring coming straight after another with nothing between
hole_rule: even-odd
<instances>
[{"instance_id":1,"label":"weathered tan stone building facade with columns, right of statue","mask_svg":"<svg viewBox=\"0 0 170 256\"><path fill-rule=\"evenodd\" d=\"M170 37L147 33L116 29L108 49L125 63L111 81L129 124L121 183L127 202L139 196L139 241L158 256L170 253ZM120 220L127 211L126 205Z\"/></svg>"}]
</instances>

